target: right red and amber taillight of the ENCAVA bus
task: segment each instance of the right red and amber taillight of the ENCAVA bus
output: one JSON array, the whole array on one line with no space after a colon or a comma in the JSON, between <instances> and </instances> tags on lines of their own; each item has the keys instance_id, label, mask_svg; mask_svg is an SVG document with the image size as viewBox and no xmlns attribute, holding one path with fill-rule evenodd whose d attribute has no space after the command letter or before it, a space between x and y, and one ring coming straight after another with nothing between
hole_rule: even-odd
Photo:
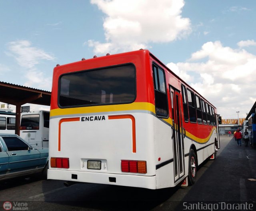
<instances>
[{"instance_id":1,"label":"right red and amber taillight of the ENCAVA bus","mask_svg":"<svg viewBox=\"0 0 256 211\"><path fill-rule=\"evenodd\" d=\"M146 161L121 160L122 172L147 173Z\"/></svg>"}]
</instances>

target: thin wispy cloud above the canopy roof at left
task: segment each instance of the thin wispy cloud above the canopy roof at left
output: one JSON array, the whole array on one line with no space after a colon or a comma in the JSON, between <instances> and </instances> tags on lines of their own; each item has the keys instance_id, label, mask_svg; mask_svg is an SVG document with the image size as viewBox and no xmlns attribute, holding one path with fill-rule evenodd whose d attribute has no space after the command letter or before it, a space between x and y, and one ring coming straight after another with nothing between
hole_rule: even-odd
<instances>
[{"instance_id":1,"label":"thin wispy cloud above the canopy roof at left","mask_svg":"<svg viewBox=\"0 0 256 211\"><path fill-rule=\"evenodd\" d=\"M6 54L14 57L18 65L23 68L22 70L26 71L23 74L27 80L23 84L24 86L51 90L52 79L45 77L44 72L38 70L36 65L44 60L53 61L55 60L54 56L42 49L32 47L28 40L10 42L8 43L8 50L9 52L6 52Z\"/></svg>"}]
</instances>

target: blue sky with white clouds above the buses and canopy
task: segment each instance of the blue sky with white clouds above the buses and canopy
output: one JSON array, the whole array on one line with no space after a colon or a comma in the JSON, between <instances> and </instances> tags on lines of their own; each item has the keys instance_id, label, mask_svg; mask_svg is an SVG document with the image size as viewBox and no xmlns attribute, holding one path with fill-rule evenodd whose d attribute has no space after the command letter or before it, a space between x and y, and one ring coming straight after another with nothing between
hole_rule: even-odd
<instances>
[{"instance_id":1,"label":"blue sky with white clouds above the buses and canopy","mask_svg":"<svg viewBox=\"0 0 256 211\"><path fill-rule=\"evenodd\" d=\"M222 119L244 118L256 101L255 20L255 0L0 0L0 81L51 91L56 64L143 48Z\"/></svg>"}]
</instances>

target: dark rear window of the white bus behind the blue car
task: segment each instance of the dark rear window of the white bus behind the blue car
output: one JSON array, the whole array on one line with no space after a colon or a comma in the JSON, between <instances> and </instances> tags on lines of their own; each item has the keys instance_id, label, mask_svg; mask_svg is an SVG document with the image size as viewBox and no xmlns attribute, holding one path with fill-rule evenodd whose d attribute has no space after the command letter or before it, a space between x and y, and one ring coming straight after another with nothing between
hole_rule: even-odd
<instances>
[{"instance_id":1,"label":"dark rear window of the white bus behind the blue car","mask_svg":"<svg viewBox=\"0 0 256 211\"><path fill-rule=\"evenodd\" d=\"M39 129L39 114L22 115L20 129Z\"/></svg>"}]
</instances>

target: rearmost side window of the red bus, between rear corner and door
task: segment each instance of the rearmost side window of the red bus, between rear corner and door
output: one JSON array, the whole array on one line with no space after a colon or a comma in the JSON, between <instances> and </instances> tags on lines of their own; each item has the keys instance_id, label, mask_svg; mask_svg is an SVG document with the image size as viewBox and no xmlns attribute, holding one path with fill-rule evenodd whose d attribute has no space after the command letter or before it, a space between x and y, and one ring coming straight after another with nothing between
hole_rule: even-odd
<instances>
[{"instance_id":1,"label":"rearmost side window of the red bus, between rear corner and door","mask_svg":"<svg viewBox=\"0 0 256 211\"><path fill-rule=\"evenodd\" d=\"M168 117L168 102L166 95L164 71L155 65L153 65L153 71L156 115L158 117Z\"/></svg>"}]
</instances>

